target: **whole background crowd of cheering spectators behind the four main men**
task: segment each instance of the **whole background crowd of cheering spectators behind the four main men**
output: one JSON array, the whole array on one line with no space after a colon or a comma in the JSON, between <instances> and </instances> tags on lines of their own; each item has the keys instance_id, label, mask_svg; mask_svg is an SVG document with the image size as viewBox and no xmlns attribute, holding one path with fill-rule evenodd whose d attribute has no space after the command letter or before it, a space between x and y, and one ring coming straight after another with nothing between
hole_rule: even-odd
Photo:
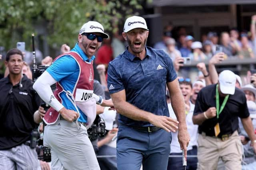
<instances>
[{"instance_id":1,"label":"whole background crowd of cheering spectators behind the four main men","mask_svg":"<svg viewBox=\"0 0 256 170\"><path fill-rule=\"evenodd\" d=\"M182 30L178 32L178 38L174 39L172 37L172 27L167 25L164 27L162 41L157 42L154 45L154 48L159 50L164 50L172 59L174 68L177 72L180 69L185 69L183 66L188 61L198 61L196 65L197 69L200 71L195 81L192 81L192 78L186 78L185 76L178 77L180 82L180 89L182 90L182 94L184 96L184 100L186 102L186 114L188 115L186 118L186 122L188 123L188 128L194 128L197 131L198 126L193 125L192 123L192 114L194 111L194 104L196 103L197 94L199 91L208 86L210 84L218 83L218 73L215 68L215 64L221 63L224 60L228 60L234 57L239 59L252 58L255 59L256 55L256 15L252 16L252 23L250 31L238 31L236 28L230 29L229 32L221 32L217 33L215 31L211 31L207 33L207 37L204 38L204 41L196 41L192 35L187 35L186 30ZM107 74L106 70L108 68L108 63L112 61L114 58L118 56L118 54L122 53L125 50L124 39L122 36L118 35L118 33L113 34L109 39L104 39L102 46L98 50L96 54L96 70L97 74L100 76L100 84L102 90L105 93L106 99L110 98L108 94L108 89L106 88L106 80ZM66 53L70 51L70 47L66 44L62 45L61 53ZM39 58L38 62L41 64L50 64L52 63L51 57L45 57L43 59L42 53L39 51L36 53ZM26 74L28 78L32 79L32 72L30 70L32 66L32 55L30 52L24 52L24 61L26 64L23 67L23 74ZM37 56L37 57L38 57ZM2 59L2 55L0 55L0 61ZM4 61L4 57L2 61ZM42 60L42 61L41 61ZM208 68L204 61L208 60ZM2 62L4 63L4 62ZM129 68L127 68L129 69ZM0 70L3 76L8 76L8 69L5 69L4 64L0 63ZM250 112L250 117L252 118L252 123L254 125L254 129L256 129L256 73L250 72L248 70L247 76L243 81L240 76L237 76L237 88L240 88L245 94L247 99L247 107ZM0 76L0 78L2 78ZM168 94L168 92L166 93ZM168 95L166 95L168 102ZM168 106L170 109L170 115L174 116L172 108L170 106L170 101L168 102ZM102 114L102 118L106 119L106 123L110 126L106 129L108 133L105 138L100 139L98 142L99 150L98 155L112 155L114 154L113 148L116 147L116 144L113 143L112 138L116 135L117 132L117 119L109 118L111 116L107 116L109 114L108 110L103 111L105 116ZM114 112L114 115L118 114ZM113 126L114 125L114 126ZM244 163L243 169L253 170L255 169L256 164L256 154L250 147L250 142L248 140L248 135L245 133L243 127L240 122L240 138L244 148ZM177 134L173 133L173 142L171 144L171 155L179 155L181 151L178 149L178 138ZM190 150L190 155L196 155L197 153L197 138L198 133L194 133L191 131L191 139L193 139L193 143L189 145L188 150ZM100 149L101 148L101 149ZM109 149L111 148L111 149ZM111 152L108 152L111 150ZM189 154L188 154L189 155ZM178 158L178 157L177 157ZM188 162L191 160L191 166L188 166L187 169L193 170L196 169L197 159L192 159L188 157ZM115 158L98 158L101 169L110 169L114 170L116 168L116 159ZM174 167L176 164L176 159L170 158L170 167ZM179 162L179 161L178 161ZM40 162L41 164L45 162ZM172 165L172 166L171 166ZM177 164L179 165L179 164ZM192 166L193 165L193 166ZM43 165L41 165L43 166ZM168 168L170 168L168 165ZM175 166L175 168L182 168L181 166ZM171 169L171 168L170 168Z\"/></svg>"}]
</instances>

